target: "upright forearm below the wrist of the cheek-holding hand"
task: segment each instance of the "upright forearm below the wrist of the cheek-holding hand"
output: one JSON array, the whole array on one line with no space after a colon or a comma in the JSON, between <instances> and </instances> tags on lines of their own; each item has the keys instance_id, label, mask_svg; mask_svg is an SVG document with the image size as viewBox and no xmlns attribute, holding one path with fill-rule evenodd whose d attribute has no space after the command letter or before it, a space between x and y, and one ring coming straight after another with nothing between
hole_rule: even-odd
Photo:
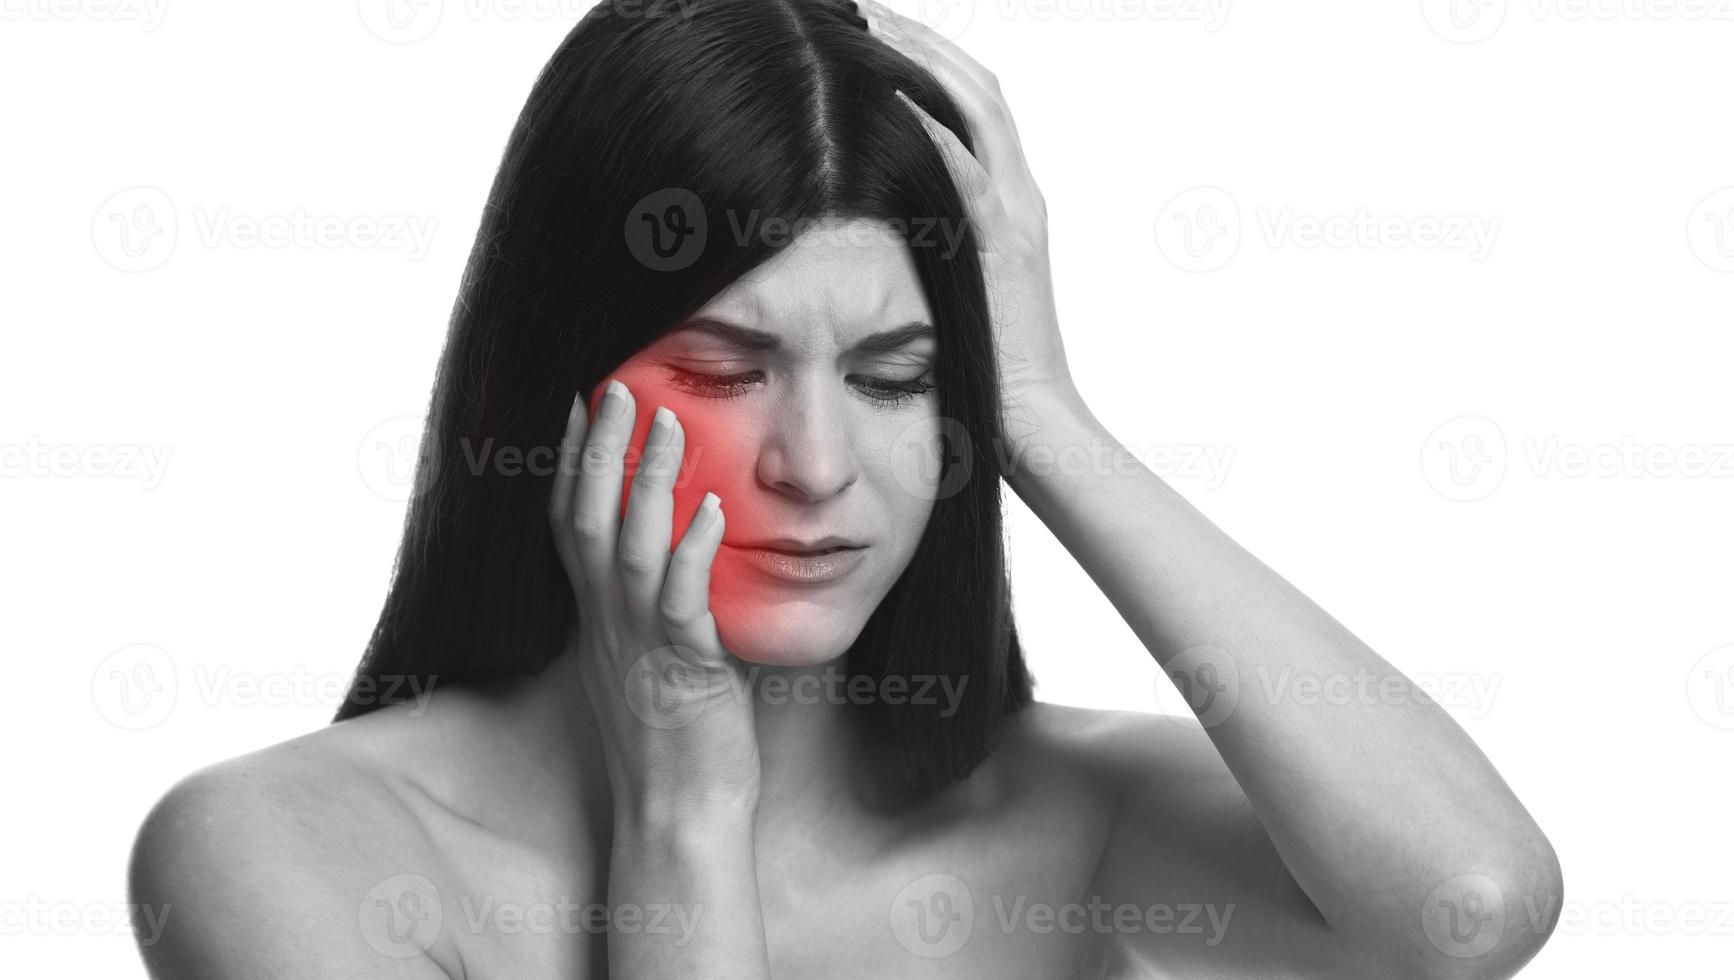
<instances>
[{"instance_id":1,"label":"upright forearm below the wrist of the cheek-holding hand","mask_svg":"<svg viewBox=\"0 0 1734 980\"><path fill-rule=\"evenodd\" d=\"M609 905L609 977L770 977L749 807L617 817Z\"/></svg>"}]
</instances>

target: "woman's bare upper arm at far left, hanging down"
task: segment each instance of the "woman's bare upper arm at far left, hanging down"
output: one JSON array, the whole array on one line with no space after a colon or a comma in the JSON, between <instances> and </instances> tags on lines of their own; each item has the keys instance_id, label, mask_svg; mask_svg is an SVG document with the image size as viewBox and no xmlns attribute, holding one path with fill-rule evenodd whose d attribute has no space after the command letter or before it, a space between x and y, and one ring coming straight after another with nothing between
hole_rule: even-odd
<instances>
[{"instance_id":1,"label":"woman's bare upper arm at far left, hanging down","mask_svg":"<svg viewBox=\"0 0 1734 980\"><path fill-rule=\"evenodd\" d=\"M324 793L329 793L326 789ZM175 784L146 817L132 850L130 902L151 977L312 978L449 977L427 938L373 902L373 881L321 789L225 763ZM376 878L376 876L375 876ZM425 878L421 881L427 881ZM369 923L369 914L375 921ZM435 924L437 931L437 924ZM439 947L434 951L442 954Z\"/></svg>"}]
</instances>

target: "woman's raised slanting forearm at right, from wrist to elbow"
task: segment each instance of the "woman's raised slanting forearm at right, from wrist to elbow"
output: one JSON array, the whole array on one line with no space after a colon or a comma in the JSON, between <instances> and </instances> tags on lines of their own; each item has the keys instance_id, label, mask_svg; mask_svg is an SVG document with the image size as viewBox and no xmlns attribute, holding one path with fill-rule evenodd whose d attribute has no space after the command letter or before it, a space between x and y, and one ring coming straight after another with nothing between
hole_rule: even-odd
<instances>
[{"instance_id":1,"label":"woman's raised slanting forearm at right, from wrist to elbow","mask_svg":"<svg viewBox=\"0 0 1734 980\"><path fill-rule=\"evenodd\" d=\"M1413 938L1427 895L1460 874L1545 900L1533 890L1557 881L1552 850L1432 699L1138 465L1075 392L1030 408L1040 425L1007 480L1164 671L1216 689L1193 708L1333 928ZM1091 446L1117 465L1042 465L1066 448L1101 458L1077 451Z\"/></svg>"}]
</instances>

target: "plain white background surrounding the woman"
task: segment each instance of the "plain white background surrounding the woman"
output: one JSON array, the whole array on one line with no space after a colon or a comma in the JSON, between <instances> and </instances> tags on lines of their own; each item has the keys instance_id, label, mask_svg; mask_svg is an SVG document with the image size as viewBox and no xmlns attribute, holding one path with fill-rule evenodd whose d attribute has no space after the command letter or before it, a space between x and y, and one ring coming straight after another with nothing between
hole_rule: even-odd
<instances>
[{"instance_id":1,"label":"plain white background surrounding the woman","mask_svg":"<svg viewBox=\"0 0 1734 980\"><path fill-rule=\"evenodd\" d=\"M5 975L139 975L146 808L323 725L373 626L477 215L583 9L409 12L0 0ZM924 16L1016 113L1096 413L1437 683L1550 834L1524 975L1722 973L1734 3ZM342 231L250 236L297 217ZM1014 498L1011 546L1042 697L1174 706Z\"/></svg>"}]
</instances>

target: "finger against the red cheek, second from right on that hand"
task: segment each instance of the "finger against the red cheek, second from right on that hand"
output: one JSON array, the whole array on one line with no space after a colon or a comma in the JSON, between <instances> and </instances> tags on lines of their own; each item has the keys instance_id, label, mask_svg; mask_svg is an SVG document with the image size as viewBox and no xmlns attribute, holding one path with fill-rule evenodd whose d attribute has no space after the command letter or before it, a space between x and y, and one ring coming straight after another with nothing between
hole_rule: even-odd
<instances>
[{"instance_id":1,"label":"finger against the red cheek, second from right on that hand","mask_svg":"<svg viewBox=\"0 0 1734 980\"><path fill-rule=\"evenodd\" d=\"M657 597L662 595L662 578L668 572L668 543L675 534L675 475L685 451L685 434L675 413L655 409L650 434L645 437L638 472L633 474L631 493L626 498L626 517L621 520L621 543L616 571L626 609L638 623L654 623Z\"/></svg>"}]
</instances>

